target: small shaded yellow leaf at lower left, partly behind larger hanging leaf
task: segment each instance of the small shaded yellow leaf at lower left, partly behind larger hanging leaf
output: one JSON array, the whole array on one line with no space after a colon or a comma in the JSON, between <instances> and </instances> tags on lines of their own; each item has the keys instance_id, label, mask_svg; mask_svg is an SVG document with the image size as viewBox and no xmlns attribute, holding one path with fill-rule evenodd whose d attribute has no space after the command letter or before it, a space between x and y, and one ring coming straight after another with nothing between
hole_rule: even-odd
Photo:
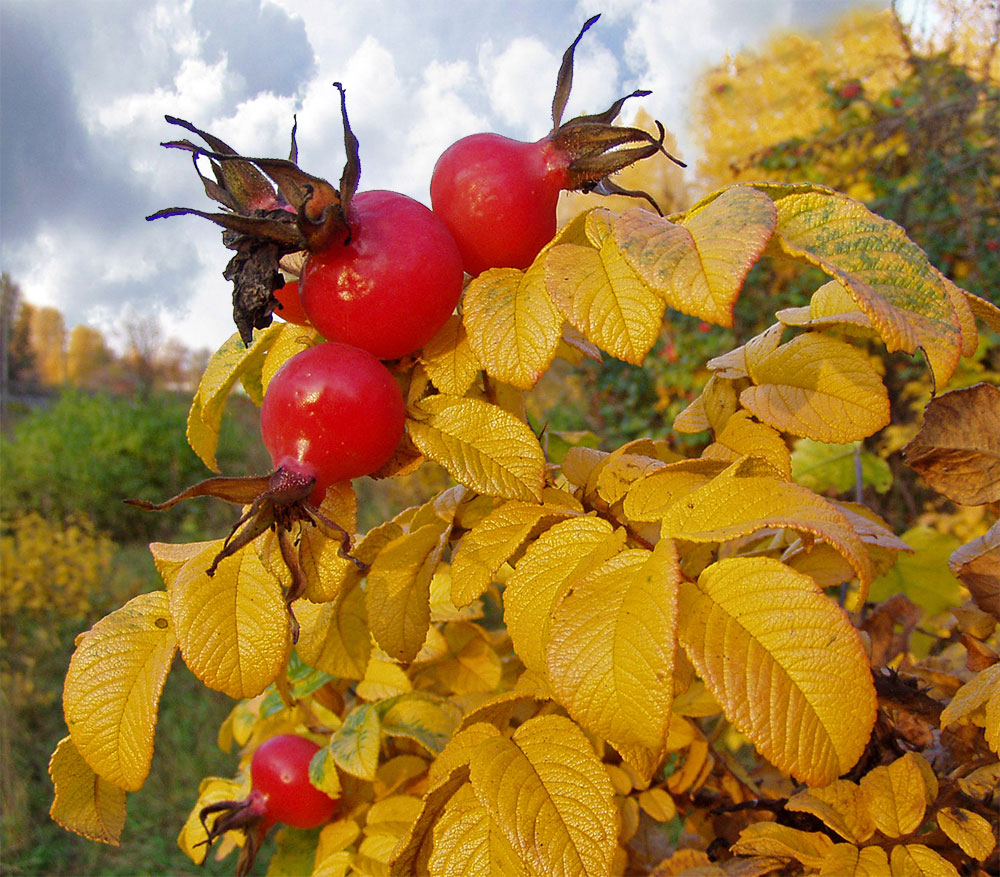
<instances>
[{"instance_id":1,"label":"small shaded yellow leaf at lower left, partly behind larger hanging leaf","mask_svg":"<svg viewBox=\"0 0 1000 877\"><path fill-rule=\"evenodd\" d=\"M125 790L102 779L63 737L49 759L55 800L49 816L67 831L118 846L125 827Z\"/></svg>"}]
</instances>

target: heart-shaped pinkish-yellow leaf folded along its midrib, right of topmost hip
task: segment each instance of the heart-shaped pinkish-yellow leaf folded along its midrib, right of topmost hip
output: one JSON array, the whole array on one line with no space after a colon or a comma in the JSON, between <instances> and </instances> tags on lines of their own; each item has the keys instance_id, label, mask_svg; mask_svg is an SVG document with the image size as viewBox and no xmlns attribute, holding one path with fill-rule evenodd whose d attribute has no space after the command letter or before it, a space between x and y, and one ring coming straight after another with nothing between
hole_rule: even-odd
<instances>
[{"instance_id":1,"label":"heart-shaped pinkish-yellow leaf folded along its midrib, right of topmost hip","mask_svg":"<svg viewBox=\"0 0 1000 877\"><path fill-rule=\"evenodd\" d=\"M774 231L771 199L734 186L674 223L648 210L627 210L613 220L622 255L674 310L733 325L743 281Z\"/></svg>"}]
</instances>

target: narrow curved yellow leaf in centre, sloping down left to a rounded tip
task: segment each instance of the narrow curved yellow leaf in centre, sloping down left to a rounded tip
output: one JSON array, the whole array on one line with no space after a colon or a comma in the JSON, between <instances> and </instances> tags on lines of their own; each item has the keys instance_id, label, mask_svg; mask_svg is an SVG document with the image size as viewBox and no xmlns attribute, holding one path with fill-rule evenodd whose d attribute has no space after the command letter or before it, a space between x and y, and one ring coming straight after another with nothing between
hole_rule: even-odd
<instances>
[{"instance_id":1,"label":"narrow curved yellow leaf in centre, sloping down left to a rounded tip","mask_svg":"<svg viewBox=\"0 0 1000 877\"><path fill-rule=\"evenodd\" d=\"M493 576L546 519L567 517L566 509L508 502L488 514L462 537L451 564L451 597L467 606L482 594Z\"/></svg>"}]
</instances>

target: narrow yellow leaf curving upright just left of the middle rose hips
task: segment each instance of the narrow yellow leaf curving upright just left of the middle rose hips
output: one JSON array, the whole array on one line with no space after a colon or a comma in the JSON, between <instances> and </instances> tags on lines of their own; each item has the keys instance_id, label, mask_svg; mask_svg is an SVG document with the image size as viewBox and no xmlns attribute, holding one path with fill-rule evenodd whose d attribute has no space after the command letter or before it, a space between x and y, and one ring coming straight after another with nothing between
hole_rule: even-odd
<instances>
[{"instance_id":1,"label":"narrow yellow leaf curving upright just left of the middle rose hips","mask_svg":"<svg viewBox=\"0 0 1000 877\"><path fill-rule=\"evenodd\" d=\"M215 451L219 445L222 410L229 391L242 375L260 369L264 354L284 327L283 323L273 323L267 329L256 332L249 347L243 344L237 332L212 354L208 362L188 412L187 437L188 444L213 472L219 471Z\"/></svg>"}]
</instances>

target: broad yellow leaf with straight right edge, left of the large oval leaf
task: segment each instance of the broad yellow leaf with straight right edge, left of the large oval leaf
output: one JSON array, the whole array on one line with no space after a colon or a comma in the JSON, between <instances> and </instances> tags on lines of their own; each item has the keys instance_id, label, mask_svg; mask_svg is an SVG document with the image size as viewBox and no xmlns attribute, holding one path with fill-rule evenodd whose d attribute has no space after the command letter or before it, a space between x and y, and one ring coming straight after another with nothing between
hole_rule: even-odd
<instances>
[{"instance_id":1,"label":"broad yellow leaf with straight right edge, left of the large oval leaf","mask_svg":"<svg viewBox=\"0 0 1000 877\"><path fill-rule=\"evenodd\" d=\"M552 690L616 748L663 752L679 579L673 543L661 539L653 551L623 551L572 581L553 615L545 653Z\"/></svg>"}]
</instances>

